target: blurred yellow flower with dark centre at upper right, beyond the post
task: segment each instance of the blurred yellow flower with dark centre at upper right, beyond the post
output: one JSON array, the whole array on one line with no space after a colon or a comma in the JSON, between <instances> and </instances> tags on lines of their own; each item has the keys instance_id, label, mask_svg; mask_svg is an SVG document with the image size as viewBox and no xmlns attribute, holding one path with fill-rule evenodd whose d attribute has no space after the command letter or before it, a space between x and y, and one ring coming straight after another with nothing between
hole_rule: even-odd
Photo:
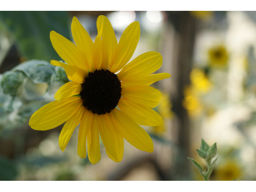
<instances>
[{"instance_id":1,"label":"blurred yellow flower with dark centre at upper right, beyond the post","mask_svg":"<svg viewBox=\"0 0 256 192\"><path fill-rule=\"evenodd\" d=\"M208 50L208 60L212 67L226 66L228 63L228 52L222 45L214 46Z\"/></svg>"}]
</instances>

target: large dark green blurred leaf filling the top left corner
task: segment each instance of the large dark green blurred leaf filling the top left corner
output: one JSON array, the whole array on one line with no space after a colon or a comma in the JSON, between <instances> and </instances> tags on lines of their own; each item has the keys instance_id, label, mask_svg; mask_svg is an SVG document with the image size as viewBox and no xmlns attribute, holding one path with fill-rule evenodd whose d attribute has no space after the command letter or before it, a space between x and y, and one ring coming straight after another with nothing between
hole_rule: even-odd
<instances>
[{"instance_id":1,"label":"large dark green blurred leaf filling the top left corner","mask_svg":"<svg viewBox=\"0 0 256 192\"><path fill-rule=\"evenodd\" d=\"M50 41L52 30L70 40L66 11L1 11L0 19L28 59L60 60Z\"/></svg>"}]
</instances>

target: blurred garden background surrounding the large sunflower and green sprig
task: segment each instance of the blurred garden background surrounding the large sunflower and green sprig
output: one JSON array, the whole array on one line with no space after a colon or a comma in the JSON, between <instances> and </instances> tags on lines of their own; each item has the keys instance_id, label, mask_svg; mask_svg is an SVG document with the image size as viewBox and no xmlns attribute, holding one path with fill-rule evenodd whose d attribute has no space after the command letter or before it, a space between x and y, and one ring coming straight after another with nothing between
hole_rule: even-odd
<instances>
[{"instance_id":1,"label":"blurred garden background surrounding the large sunflower and green sprig","mask_svg":"<svg viewBox=\"0 0 256 192\"><path fill-rule=\"evenodd\" d=\"M152 84L162 92L155 110L164 126L143 128L154 152L125 140L120 163L101 143L96 165L77 155L78 127L65 152L62 126L32 130L31 115L54 100L68 78L50 60L61 60L50 42L54 30L73 41L76 16L94 41L105 15L119 41L140 22L132 59L147 51L163 56L171 78ZM202 180L194 158L201 138L217 142L210 180L256 180L256 12L238 11L0 11L0 180ZM131 60L132 60L131 59Z\"/></svg>"}]
</instances>

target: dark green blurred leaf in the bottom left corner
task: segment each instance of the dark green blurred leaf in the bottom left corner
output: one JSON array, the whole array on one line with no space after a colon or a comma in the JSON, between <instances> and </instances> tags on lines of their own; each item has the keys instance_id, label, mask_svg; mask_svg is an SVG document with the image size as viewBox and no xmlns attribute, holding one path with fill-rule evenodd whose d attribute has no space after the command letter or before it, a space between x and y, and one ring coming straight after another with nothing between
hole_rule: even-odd
<instances>
[{"instance_id":1,"label":"dark green blurred leaf in the bottom left corner","mask_svg":"<svg viewBox=\"0 0 256 192\"><path fill-rule=\"evenodd\" d=\"M15 180L18 174L16 165L6 158L0 156L0 180L11 181Z\"/></svg>"}]
</instances>

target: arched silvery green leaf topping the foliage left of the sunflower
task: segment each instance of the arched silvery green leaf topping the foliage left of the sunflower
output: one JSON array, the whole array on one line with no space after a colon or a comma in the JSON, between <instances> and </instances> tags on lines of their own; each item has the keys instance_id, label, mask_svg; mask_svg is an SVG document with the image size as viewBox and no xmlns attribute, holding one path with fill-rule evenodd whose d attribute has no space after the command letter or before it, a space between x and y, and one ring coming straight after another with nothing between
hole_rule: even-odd
<instances>
[{"instance_id":1,"label":"arched silvery green leaf topping the foliage left of the sunflower","mask_svg":"<svg viewBox=\"0 0 256 192\"><path fill-rule=\"evenodd\" d=\"M12 71L24 72L34 83L49 83L54 66L44 60L34 59L19 64Z\"/></svg>"}]
</instances>

